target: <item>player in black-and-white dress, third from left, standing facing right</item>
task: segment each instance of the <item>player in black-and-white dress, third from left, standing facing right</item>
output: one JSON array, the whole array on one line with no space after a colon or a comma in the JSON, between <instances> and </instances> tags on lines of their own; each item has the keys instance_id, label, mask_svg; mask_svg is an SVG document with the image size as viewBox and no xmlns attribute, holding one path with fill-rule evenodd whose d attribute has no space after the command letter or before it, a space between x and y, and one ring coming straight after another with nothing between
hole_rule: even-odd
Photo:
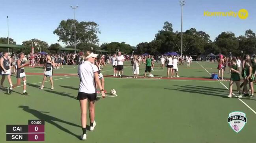
<instances>
[{"instance_id":1,"label":"player in black-and-white dress, third from left, standing facing right","mask_svg":"<svg viewBox=\"0 0 256 143\"><path fill-rule=\"evenodd\" d=\"M44 72L44 76L43 76L43 82L42 82L42 85L40 87L40 89L43 89L44 86L44 83L45 83L45 80L46 78L49 76L50 77L50 83L52 84L52 90L53 90L53 80L52 80L52 70L53 70L53 67L55 67L55 62L54 60L50 57L50 54L47 54L47 62L46 62L46 66L45 66L45 72Z\"/></svg>"}]
</instances>

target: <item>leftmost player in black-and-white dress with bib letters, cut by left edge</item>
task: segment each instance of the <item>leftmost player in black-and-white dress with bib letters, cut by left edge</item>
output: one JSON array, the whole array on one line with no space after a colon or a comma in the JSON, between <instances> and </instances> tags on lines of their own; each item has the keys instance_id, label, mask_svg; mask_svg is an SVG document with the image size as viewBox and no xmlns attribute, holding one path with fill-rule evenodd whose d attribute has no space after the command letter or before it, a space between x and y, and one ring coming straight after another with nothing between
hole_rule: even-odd
<instances>
[{"instance_id":1,"label":"leftmost player in black-and-white dress with bib letters, cut by left edge","mask_svg":"<svg viewBox=\"0 0 256 143\"><path fill-rule=\"evenodd\" d=\"M13 87L11 82L11 58L9 57L8 52L4 52L4 56L0 58L0 74L2 75L0 88L3 87L4 80L7 76L10 87Z\"/></svg>"}]
</instances>

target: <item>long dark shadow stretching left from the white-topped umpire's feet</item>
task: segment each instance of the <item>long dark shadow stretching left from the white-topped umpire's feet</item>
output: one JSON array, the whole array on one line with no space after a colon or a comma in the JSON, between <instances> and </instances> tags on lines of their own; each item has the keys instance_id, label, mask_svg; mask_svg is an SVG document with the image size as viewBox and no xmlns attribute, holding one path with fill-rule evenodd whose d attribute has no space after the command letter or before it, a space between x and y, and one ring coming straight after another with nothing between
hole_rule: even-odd
<instances>
[{"instance_id":1,"label":"long dark shadow stretching left from the white-topped umpire's feet","mask_svg":"<svg viewBox=\"0 0 256 143\"><path fill-rule=\"evenodd\" d=\"M49 113L49 112L42 112L42 111L38 111L38 110L35 110L35 109L30 109L28 106L19 106L19 108L22 108L22 110L36 116L36 118L38 119L41 119L41 120L44 120L45 122L47 123L50 123L52 125L54 125L55 127L57 127L58 129L60 130L63 130L64 132L68 133L68 134L71 134L72 136L75 136L77 138L79 138L80 136L74 134L73 132L69 131L68 129L65 129L64 127L62 127L61 125L55 123L54 121L58 121L58 122L61 122L61 123L65 123L65 124L68 124L68 125L71 125L71 126L75 126L75 127L79 127L81 128L81 126L79 125L76 125L74 123L70 123L70 122L67 122L67 121L64 121L62 119L59 119L59 118L55 118L53 116L50 116L50 115L47 115L47 114L44 114L44 113Z\"/></svg>"}]
</instances>

